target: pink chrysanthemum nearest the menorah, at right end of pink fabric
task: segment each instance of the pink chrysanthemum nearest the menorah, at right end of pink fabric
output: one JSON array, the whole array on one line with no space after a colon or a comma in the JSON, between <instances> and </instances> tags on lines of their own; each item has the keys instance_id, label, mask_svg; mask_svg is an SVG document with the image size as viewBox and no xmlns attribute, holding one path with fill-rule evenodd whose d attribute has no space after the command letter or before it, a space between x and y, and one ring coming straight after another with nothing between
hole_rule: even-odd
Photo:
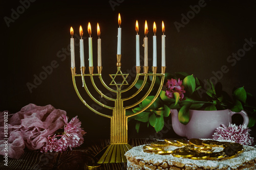
<instances>
[{"instance_id":1,"label":"pink chrysanthemum nearest the menorah, at right end of pink fabric","mask_svg":"<svg viewBox=\"0 0 256 170\"><path fill-rule=\"evenodd\" d=\"M66 115L62 116L65 122L64 132L61 137L61 141L65 148L76 148L79 147L83 143L83 135L86 134L81 126L81 122L76 117L73 117L68 123L68 117Z\"/></svg>"}]
</instances>

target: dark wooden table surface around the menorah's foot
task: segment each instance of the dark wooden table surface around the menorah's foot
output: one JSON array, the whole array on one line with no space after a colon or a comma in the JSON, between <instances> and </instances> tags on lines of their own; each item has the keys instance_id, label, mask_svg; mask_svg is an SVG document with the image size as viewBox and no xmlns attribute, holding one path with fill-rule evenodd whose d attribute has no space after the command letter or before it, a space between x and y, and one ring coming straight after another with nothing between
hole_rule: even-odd
<instances>
[{"instance_id":1,"label":"dark wooden table surface around the menorah's foot","mask_svg":"<svg viewBox=\"0 0 256 170\"><path fill-rule=\"evenodd\" d=\"M155 139L129 139L128 143L135 147L137 145L151 143ZM126 169L126 163L108 163L101 164L99 168L88 168L87 164L97 162L99 157L94 157L103 148L109 144L108 139L100 141L84 141L78 149L66 151L62 153L40 153L38 151L25 151L21 158L8 158L8 166L4 165L3 157L0 159L1 170L82 170L82 169Z\"/></svg>"}]
</instances>

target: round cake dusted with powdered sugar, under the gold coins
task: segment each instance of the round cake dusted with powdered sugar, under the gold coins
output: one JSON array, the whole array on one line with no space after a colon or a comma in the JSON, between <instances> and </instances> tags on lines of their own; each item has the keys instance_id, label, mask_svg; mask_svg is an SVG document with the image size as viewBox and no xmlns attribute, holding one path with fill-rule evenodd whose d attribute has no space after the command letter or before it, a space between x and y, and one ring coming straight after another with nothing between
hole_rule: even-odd
<instances>
[{"instance_id":1,"label":"round cake dusted with powdered sugar, under the gold coins","mask_svg":"<svg viewBox=\"0 0 256 170\"><path fill-rule=\"evenodd\" d=\"M204 141L207 139L204 139ZM230 142L227 140L218 140L220 142ZM176 142L176 141L175 141ZM235 143L236 144L236 143ZM145 149L151 145L139 145L125 153L127 159L127 169L256 169L256 148L248 145L241 145L242 151L233 156L224 155L224 158L210 160L206 159L191 159L175 157L172 153L167 154L165 151L173 152L179 148L175 145L158 145L160 149L154 152L147 152ZM198 146L199 147L199 146ZM195 150L198 148L195 147ZM178 150L179 150L178 149ZM211 152L223 152L225 147L216 147L212 145ZM226 148L227 150L227 148ZM160 152L159 152L160 151ZM164 155L160 153L165 152ZM177 156L177 154L176 154Z\"/></svg>"}]
</instances>

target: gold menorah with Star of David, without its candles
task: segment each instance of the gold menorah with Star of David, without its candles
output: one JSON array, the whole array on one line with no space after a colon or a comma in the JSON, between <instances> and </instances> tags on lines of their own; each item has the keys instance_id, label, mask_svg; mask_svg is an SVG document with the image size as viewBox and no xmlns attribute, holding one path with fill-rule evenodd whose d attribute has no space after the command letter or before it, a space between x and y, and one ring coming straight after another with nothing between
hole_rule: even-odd
<instances>
[{"instance_id":1,"label":"gold menorah with Star of David, without its candles","mask_svg":"<svg viewBox=\"0 0 256 170\"><path fill-rule=\"evenodd\" d=\"M164 73L165 73L165 68L164 66L161 67L161 74L157 74L157 67L152 67L152 71L153 73L148 73L148 66L143 66L143 70L144 73L140 73L140 66L136 66L136 78L134 80L134 82L127 87L126 89L121 89L122 85L129 85L126 81L127 76L129 76L129 74L122 74L121 71L121 55L117 55L117 72L116 74L112 74L110 75L110 77L112 78L112 81L110 83L110 85L115 85L116 86L116 90L113 90L112 88L110 88L109 86L107 86L102 77L101 77L101 70L102 70L102 66L97 66L97 70L98 70L98 74L93 74L93 66L89 67L89 74L84 74L85 71L85 67L81 67L81 74L76 75L76 68L75 67L71 67L71 72L72 72L72 80L73 80L73 85L75 88L75 91L79 97L79 99L84 103L84 105L86 105L90 110L92 110L93 112L104 116L104 117L108 117L110 118L110 144L108 145L108 147L106 148L103 156L99 159L98 163L120 163L120 162L126 162L126 157L124 156L125 152L127 152L128 150L132 149L131 145L127 143L127 119L129 117L132 117L134 115L137 115L141 112L143 112L144 110L146 110L148 107L150 107L155 100L157 99L162 86L163 86L163 82L164 82ZM89 76L91 78L92 81L92 85L95 88L95 90L105 99L110 100L110 101L114 101L115 102L115 107L110 107L107 105L104 105L102 103L100 103L98 100L96 100L94 98L94 96L90 93L90 91L88 90L88 87L86 85L86 81L84 81L84 76ZM108 96L102 94L102 92L98 89L98 87L96 86L95 82L94 82L94 76L98 76L100 79L100 82L102 83L102 85L109 91L111 92L115 92L116 93L116 99L113 98L109 98ZM122 83L116 83L115 78L117 76L121 76L123 81ZM139 80L139 76L144 76L144 81L141 85L141 87L131 96L122 99L122 93L127 92L128 90L130 90L132 87L134 87L134 85L136 84L136 82ZM152 83L150 88L148 89L148 91L144 94L144 96L137 101L136 103L130 105L130 106L123 106L123 102L130 100L132 98L134 98L134 96L136 96L144 87L144 85L147 82L147 78L148 76L152 76ZM158 88L157 93L155 94L155 98L147 105L145 106L142 110L137 111L136 113L133 114L129 114L129 115L125 115L125 110L126 109L130 109L136 105L138 105L139 103L141 103L144 99L146 99L146 97L150 94L150 92L152 91L155 81L156 81L156 77L157 76L161 76L161 83L160 86ZM97 110L93 109L91 106L89 106L86 101L84 101L77 89L76 86L76 81L75 78L76 77L81 77L82 79L82 83L84 86L84 89L86 90L86 92L88 93L88 95L90 96L90 98L97 104L99 104L100 106L104 107L104 108L108 108L113 110L113 114L112 115L105 115L103 113L98 112Z\"/></svg>"}]
</instances>

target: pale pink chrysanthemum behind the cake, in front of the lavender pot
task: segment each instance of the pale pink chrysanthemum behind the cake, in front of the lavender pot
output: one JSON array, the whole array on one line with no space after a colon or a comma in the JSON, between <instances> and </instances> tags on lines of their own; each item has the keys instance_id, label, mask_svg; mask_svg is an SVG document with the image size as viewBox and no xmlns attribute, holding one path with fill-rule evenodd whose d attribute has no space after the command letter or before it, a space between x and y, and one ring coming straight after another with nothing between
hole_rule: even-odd
<instances>
[{"instance_id":1,"label":"pale pink chrysanthemum behind the cake, in front of the lavender pot","mask_svg":"<svg viewBox=\"0 0 256 170\"><path fill-rule=\"evenodd\" d=\"M250 129L246 125L236 126L236 124L229 123L228 127L223 124L221 126L212 135L214 139L228 139L243 145L253 144L253 137L250 137Z\"/></svg>"}]
</instances>

